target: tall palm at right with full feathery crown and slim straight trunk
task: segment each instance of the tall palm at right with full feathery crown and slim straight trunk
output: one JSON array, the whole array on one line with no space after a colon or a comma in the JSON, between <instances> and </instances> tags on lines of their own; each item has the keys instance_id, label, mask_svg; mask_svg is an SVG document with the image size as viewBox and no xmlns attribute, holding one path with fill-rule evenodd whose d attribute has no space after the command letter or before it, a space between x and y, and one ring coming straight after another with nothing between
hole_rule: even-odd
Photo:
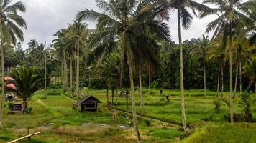
<instances>
[{"instance_id":1,"label":"tall palm at right with full feathery crown and slim straight trunk","mask_svg":"<svg viewBox=\"0 0 256 143\"><path fill-rule=\"evenodd\" d=\"M206 33L215 30L213 39L222 35L223 41L229 41L229 86L230 86L230 120L234 122L234 110L233 110L233 36L236 32L237 26L245 27L255 24L255 21L248 15L250 10L248 6L255 6L254 1L219 1L219 0L204 0L204 4L214 4L217 8L214 8L214 12L202 12L201 17L208 16L209 14L216 14L217 19L209 23L206 27ZM229 40L227 40L229 36Z\"/></svg>"}]
</instances>

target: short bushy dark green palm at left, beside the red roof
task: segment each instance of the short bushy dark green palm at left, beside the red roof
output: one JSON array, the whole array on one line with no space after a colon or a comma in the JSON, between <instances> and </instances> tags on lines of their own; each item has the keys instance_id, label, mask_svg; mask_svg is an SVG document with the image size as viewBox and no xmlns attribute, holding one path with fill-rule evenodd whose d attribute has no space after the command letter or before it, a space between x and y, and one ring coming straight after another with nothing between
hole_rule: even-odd
<instances>
[{"instance_id":1,"label":"short bushy dark green palm at left, beside the red roof","mask_svg":"<svg viewBox=\"0 0 256 143\"><path fill-rule=\"evenodd\" d=\"M37 73L35 68L27 68L24 66L14 69L11 73L11 77L15 80L10 81L10 83L14 84L16 89L7 89L10 92L17 93L17 95L22 98L22 112L24 113L27 109L27 99L31 98L38 90L43 89L45 79Z\"/></svg>"}]
</instances>

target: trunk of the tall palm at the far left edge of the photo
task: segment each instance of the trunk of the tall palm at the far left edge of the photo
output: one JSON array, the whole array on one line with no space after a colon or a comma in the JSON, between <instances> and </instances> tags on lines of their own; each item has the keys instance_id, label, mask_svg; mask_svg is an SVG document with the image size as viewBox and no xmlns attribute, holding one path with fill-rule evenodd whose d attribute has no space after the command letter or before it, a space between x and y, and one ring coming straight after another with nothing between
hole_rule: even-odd
<instances>
[{"instance_id":1,"label":"trunk of the tall palm at the far left edge of the photo","mask_svg":"<svg viewBox=\"0 0 256 143\"><path fill-rule=\"evenodd\" d=\"M1 19L0 19L1 21ZM4 36L2 34L1 22L0 22L0 44L1 44L1 113L0 113L0 126L3 119L4 114Z\"/></svg>"}]
</instances>

